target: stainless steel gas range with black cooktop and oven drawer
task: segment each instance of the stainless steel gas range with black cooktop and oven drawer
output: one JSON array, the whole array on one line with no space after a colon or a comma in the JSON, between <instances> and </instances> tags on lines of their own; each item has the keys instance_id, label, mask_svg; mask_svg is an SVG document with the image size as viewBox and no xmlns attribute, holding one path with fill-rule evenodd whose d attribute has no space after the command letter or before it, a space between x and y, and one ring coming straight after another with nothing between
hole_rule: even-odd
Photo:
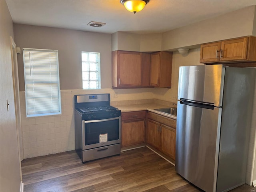
<instances>
[{"instance_id":1,"label":"stainless steel gas range with black cooktop and oven drawer","mask_svg":"<svg viewBox=\"0 0 256 192\"><path fill-rule=\"evenodd\" d=\"M75 95L76 152L82 162L120 154L121 111L110 94Z\"/></svg>"}]
</instances>

